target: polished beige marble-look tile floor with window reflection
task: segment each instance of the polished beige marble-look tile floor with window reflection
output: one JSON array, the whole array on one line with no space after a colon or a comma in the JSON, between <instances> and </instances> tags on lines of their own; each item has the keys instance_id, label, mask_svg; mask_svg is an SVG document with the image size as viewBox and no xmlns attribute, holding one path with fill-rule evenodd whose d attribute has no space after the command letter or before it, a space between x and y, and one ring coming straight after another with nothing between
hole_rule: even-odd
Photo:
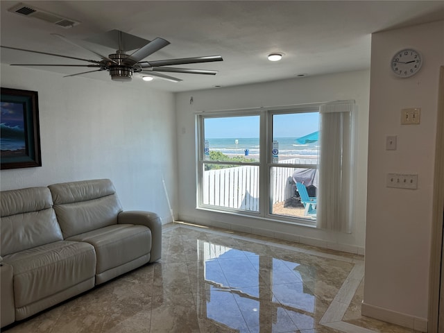
<instances>
[{"instance_id":1,"label":"polished beige marble-look tile floor with window reflection","mask_svg":"<svg viewBox=\"0 0 444 333\"><path fill-rule=\"evenodd\" d=\"M415 332L361 316L364 257L184 223L164 225L162 246L5 332Z\"/></svg>"}]
</instances>

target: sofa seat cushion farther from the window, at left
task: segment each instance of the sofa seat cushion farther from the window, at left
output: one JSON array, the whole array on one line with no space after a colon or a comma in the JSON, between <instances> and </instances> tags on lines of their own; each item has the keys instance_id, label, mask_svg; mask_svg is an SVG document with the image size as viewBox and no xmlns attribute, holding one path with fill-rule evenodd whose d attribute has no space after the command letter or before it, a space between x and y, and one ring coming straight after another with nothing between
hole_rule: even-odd
<instances>
[{"instance_id":1,"label":"sofa seat cushion farther from the window, at left","mask_svg":"<svg viewBox=\"0 0 444 333\"><path fill-rule=\"evenodd\" d=\"M24 307L93 278L94 247L56 241L3 257L14 271L15 307Z\"/></svg>"}]
</instances>

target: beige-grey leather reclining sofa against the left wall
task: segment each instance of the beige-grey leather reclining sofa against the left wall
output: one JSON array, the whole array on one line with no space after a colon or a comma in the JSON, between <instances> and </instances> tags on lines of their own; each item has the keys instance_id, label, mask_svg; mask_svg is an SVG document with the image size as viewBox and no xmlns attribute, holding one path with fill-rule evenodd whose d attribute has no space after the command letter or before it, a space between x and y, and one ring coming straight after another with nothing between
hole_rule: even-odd
<instances>
[{"instance_id":1,"label":"beige-grey leather reclining sofa against the left wall","mask_svg":"<svg viewBox=\"0 0 444 333\"><path fill-rule=\"evenodd\" d=\"M160 259L162 223L107 179L1 191L1 327Z\"/></svg>"}]
</instances>

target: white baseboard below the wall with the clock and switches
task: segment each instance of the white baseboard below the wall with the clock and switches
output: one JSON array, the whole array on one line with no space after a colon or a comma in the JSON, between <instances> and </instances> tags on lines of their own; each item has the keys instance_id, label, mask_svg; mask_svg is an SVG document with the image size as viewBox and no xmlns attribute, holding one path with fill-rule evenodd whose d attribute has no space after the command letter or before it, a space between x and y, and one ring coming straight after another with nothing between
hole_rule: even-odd
<instances>
[{"instance_id":1,"label":"white baseboard below the wall with the clock and switches","mask_svg":"<svg viewBox=\"0 0 444 333\"><path fill-rule=\"evenodd\" d=\"M412 330L427 332L427 318L401 314L400 312L366 304L366 302L362 302L361 314L363 316L378 319L379 321L386 321L387 323L400 325Z\"/></svg>"}]
</instances>

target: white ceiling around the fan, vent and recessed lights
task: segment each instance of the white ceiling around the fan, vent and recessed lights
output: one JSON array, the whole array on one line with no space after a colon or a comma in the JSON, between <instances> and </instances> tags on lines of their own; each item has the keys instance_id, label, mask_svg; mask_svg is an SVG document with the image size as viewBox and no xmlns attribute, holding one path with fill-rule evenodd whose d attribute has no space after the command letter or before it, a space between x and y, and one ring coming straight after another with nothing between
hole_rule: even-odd
<instances>
[{"instance_id":1,"label":"white ceiling around the fan, vent and recessed lights","mask_svg":"<svg viewBox=\"0 0 444 333\"><path fill-rule=\"evenodd\" d=\"M183 81L140 77L128 85L169 92L228 87L314 76L370 66L370 34L444 19L444 1L30 1L23 3L81 22L72 28L8 12L19 1L0 1L1 45L100 60L94 53L51 35L58 33L108 56L115 50L84 42L118 29L146 40L162 37L170 45L147 60L221 55L223 62L181 65L214 69L216 76L173 74ZM410 45L405 45L410 46ZM397 50L393 50L397 51ZM280 62L268 53L284 53ZM3 63L65 64L71 60L1 49ZM76 61L75 63L81 63ZM74 74L88 69L39 67ZM85 74L111 80L108 73ZM303 78L300 78L303 80ZM66 80L81 80L76 76ZM121 83L116 83L121 84ZM213 88L216 89L216 88Z\"/></svg>"}]
</instances>

